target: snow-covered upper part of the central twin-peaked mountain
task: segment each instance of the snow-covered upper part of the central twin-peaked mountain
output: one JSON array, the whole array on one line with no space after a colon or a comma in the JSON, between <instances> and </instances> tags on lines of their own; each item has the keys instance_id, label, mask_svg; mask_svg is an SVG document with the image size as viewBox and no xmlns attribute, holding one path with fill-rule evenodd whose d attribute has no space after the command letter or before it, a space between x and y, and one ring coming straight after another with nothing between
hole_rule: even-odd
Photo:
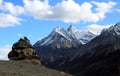
<instances>
[{"instance_id":1,"label":"snow-covered upper part of the central twin-peaked mountain","mask_svg":"<svg viewBox=\"0 0 120 76\"><path fill-rule=\"evenodd\" d=\"M44 39L44 42L56 41L56 38L62 36L63 38L74 41L78 40L81 44L86 44L96 36L88 30L77 30L73 25L70 25L68 29L61 27L55 28L47 38ZM59 38L57 39L59 40ZM74 43L74 42L73 42Z\"/></svg>"}]
</instances>

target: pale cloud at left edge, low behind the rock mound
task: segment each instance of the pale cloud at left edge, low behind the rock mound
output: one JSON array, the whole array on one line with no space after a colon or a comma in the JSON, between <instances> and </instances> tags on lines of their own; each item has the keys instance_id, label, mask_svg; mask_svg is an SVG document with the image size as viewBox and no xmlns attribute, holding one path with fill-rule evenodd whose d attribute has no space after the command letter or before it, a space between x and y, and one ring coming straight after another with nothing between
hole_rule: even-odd
<instances>
[{"instance_id":1,"label":"pale cloud at left edge, low behind the rock mound","mask_svg":"<svg viewBox=\"0 0 120 76\"><path fill-rule=\"evenodd\" d=\"M11 45L0 47L0 60L9 60L8 53L11 51Z\"/></svg>"}]
</instances>

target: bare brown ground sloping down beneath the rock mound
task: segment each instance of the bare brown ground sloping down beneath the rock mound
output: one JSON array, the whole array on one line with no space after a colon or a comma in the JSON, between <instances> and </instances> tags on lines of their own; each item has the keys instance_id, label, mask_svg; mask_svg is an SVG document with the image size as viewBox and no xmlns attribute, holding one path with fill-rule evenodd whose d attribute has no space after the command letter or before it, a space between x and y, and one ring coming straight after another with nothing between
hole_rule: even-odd
<instances>
[{"instance_id":1,"label":"bare brown ground sloping down beneath the rock mound","mask_svg":"<svg viewBox=\"0 0 120 76\"><path fill-rule=\"evenodd\" d=\"M72 76L42 66L38 61L1 61L0 76Z\"/></svg>"}]
</instances>

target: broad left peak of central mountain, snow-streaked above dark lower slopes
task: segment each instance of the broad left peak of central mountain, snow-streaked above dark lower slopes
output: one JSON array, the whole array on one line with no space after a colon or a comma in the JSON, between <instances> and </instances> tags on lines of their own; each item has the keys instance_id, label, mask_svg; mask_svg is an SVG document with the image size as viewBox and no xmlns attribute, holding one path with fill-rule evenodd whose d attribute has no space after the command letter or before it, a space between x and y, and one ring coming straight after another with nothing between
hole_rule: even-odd
<instances>
[{"instance_id":1,"label":"broad left peak of central mountain, snow-streaked above dark lower slopes","mask_svg":"<svg viewBox=\"0 0 120 76\"><path fill-rule=\"evenodd\" d=\"M68 44L69 46L66 44ZM80 42L74 36L69 34L68 31L66 31L64 28L60 28L60 27L55 28L48 35L48 37L46 37L36 43L36 45L39 45L39 46L54 45L57 48L76 47L79 44L80 44Z\"/></svg>"}]
</instances>

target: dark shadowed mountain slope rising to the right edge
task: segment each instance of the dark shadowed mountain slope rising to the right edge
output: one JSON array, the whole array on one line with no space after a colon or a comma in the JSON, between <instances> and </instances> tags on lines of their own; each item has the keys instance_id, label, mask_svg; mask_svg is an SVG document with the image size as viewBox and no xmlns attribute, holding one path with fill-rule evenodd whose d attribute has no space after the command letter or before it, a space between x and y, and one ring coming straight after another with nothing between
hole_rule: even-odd
<instances>
[{"instance_id":1,"label":"dark shadowed mountain slope rising to the right edge","mask_svg":"<svg viewBox=\"0 0 120 76\"><path fill-rule=\"evenodd\" d=\"M70 55L71 60L60 66L62 70L75 76L119 76L120 23L76 50Z\"/></svg>"}]
</instances>

